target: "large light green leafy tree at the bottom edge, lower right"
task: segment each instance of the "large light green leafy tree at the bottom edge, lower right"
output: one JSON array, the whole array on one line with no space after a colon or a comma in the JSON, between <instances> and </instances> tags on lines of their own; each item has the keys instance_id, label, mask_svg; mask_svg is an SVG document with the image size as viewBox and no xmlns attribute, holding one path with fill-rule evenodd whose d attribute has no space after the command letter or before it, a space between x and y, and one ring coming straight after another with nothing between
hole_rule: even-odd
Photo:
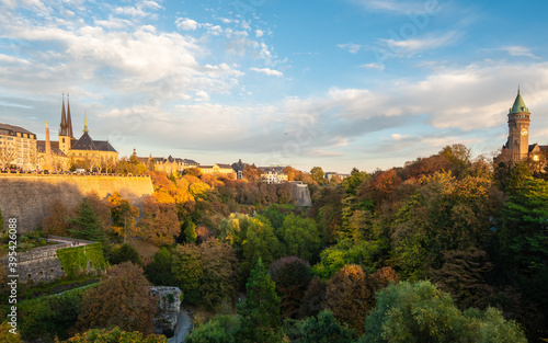
<instances>
[{"instance_id":1,"label":"large light green leafy tree at the bottom edge, lower right","mask_svg":"<svg viewBox=\"0 0 548 343\"><path fill-rule=\"evenodd\" d=\"M461 312L427 281L390 285L377 295L359 342L526 342L495 309Z\"/></svg>"}]
</instances>

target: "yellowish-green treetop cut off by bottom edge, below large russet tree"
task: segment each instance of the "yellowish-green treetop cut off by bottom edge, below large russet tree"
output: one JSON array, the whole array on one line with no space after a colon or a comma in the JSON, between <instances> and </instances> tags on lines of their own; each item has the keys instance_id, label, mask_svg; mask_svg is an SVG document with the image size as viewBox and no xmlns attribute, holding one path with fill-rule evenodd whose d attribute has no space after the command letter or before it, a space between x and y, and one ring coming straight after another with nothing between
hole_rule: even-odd
<instances>
[{"instance_id":1,"label":"yellowish-green treetop cut off by bottom edge, below large russet tree","mask_svg":"<svg viewBox=\"0 0 548 343\"><path fill-rule=\"evenodd\" d=\"M59 341L56 339L56 343ZM67 343L94 343L94 342L132 342L132 343L167 343L168 339L161 334L144 336L141 332L126 332L114 327L113 329L92 329L84 333L77 333L73 338L65 341Z\"/></svg>"}]
</instances>

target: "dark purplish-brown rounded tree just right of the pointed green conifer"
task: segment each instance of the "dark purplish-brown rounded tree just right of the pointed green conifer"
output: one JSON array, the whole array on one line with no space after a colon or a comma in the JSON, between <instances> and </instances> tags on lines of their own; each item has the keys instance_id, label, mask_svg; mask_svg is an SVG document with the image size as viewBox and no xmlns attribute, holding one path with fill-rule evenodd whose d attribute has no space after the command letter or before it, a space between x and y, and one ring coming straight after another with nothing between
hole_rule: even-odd
<instances>
[{"instance_id":1,"label":"dark purplish-brown rounded tree just right of the pointed green conifer","mask_svg":"<svg viewBox=\"0 0 548 343\"><path fill-rule=\"evenodd\" d=\"M310 265L297 256L275 261L270 268L281 299L283 318L295 318L310 283Z\"/></svg>"}]
</instances>

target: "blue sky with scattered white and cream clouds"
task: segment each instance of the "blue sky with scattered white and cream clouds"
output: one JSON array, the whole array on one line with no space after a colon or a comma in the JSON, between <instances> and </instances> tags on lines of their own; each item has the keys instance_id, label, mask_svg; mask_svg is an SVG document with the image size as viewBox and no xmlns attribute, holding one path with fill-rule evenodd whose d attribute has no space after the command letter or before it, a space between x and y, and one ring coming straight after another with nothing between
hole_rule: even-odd
<instances>
[{"instance_id":1,"label":"blue sky with scattered white and cream clouds","mask_svg":"<svg viewBox=\"0 0 548 343\"><path fill-rule=\"evenodd\" d=\"M548 2L0 0L0 122L119 156L373 172L548 144ZM65 95L64 95L65 94ZM69 94L69 95L67 95Z\"/></svg>"}]
</instances>

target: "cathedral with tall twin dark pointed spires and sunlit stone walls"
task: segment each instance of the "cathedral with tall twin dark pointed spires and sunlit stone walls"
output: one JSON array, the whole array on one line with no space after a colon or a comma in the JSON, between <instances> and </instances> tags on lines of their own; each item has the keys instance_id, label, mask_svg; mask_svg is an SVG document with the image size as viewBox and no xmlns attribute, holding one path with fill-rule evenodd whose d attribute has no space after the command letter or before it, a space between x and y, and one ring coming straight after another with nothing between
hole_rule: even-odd
<instances>
[{"instance_id":1,"label":"cathedral with tall twin dark pointed spires and sunlit stone walls","mask_svg":"<svg viewBox=\"0 0 548 343\"><path fill-rule=\"evenodd\" d=\"M61 124L59 126L58 141L49 141L49 132L46 128L46 140L37 141L38 153L50 151L54 170L68 170L69 164L79 162L88 164L90 170L113 169L118 161L118 152L109 140L94 140L88 129L85 113L83 115L83 135L76 139L72 132L70 116L70 101L67 95L65 108L65 94L61 103ZM46 123L47 124L47 123ZM60 162L56 162L60 161Z\"/></svg>"}]
</instances>

